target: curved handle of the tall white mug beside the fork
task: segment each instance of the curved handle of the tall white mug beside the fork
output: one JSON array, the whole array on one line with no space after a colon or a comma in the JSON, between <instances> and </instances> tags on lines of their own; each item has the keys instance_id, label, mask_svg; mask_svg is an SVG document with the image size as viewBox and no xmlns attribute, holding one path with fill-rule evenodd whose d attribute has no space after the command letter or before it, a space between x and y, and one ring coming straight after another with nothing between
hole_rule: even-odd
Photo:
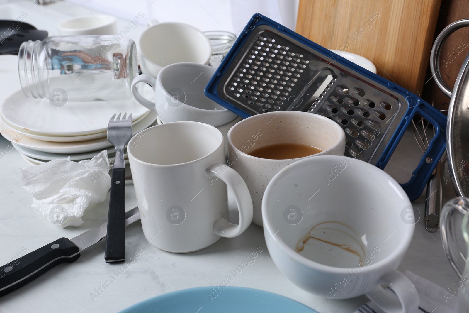
<instances>
[{"instance_id":1,"label":"curved handle of the tall white mug beside the fork","mask_svg":"<svg viewBox=\"0 0 469 313\"><path fill-rule=\"evenodd\" d=\"M233 168L226 164L215 163L205 170L211 179L221 179L233 192L238 206L239 224L235 225L222 216L213 222L212 232L221 237L236 237L246 230L252 221L252 200L248 186Z\"/></svg>"}]
</instances>

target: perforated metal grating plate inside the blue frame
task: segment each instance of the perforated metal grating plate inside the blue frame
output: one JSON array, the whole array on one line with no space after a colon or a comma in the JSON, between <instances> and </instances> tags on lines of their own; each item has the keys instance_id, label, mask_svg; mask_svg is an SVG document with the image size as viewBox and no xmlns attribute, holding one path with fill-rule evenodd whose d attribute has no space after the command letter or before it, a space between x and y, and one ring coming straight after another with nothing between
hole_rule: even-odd
<instances>
[{"instance_id":1,"label":"perforated metal grating plate inside the blue frame","mask_svg":"<svg viewBox=\"0 0 469 313\"><path fill-rule=\"evenodd\" d=\"M344 129L346 156L376 163L386 133L397 127L393 120L405 113L405 98L269 26L256 29L219 94L250 115L293 110L326 116Z\"/></svg>"}]
</instances>

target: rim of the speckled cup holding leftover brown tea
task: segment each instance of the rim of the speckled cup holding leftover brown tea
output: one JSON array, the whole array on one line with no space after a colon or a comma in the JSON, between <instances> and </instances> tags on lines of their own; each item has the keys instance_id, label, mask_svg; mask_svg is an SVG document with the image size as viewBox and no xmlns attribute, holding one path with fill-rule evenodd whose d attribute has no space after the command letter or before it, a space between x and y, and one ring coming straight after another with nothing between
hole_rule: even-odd
<instances>
[{"instance_id":1,"label":"rim of the speckled cup holding leftover brown tea","mask_svg":"<svg viewBox=\"0 0 469 313\"><path fill-rule=\"evenodd\" d=\"M280 111L280 112L261 113L261 115L266 116L266 115L274 115L275 114L275 116L277 116L278 114L286 114L285 112L289 112L288 115L291 115L291 114L294 114L294 115L313 114L313 113L298 112L298 111ZM228 130L228 134L227 134L228 144L231 145L232 147L234 147L234 149L236 149L237 153L241 153L243 156L246 156L246 157L248 157L250 159L253 159L253 160L262 159L263 161L266 161L266 162L282 161L281 159L279 160L279 159L258 158L258 157L252 156L250 154L244 153L241 149L239 149L236 145L234 145L233 140L231 140L231 134L236 128L242 127L243 123L247 123L247 122L250 121L250 119L254 119L257 116L258 115L252 115L248 118L245 118L244 120L242 120L240 122L237 122L235 125L233 125L233 127L230 130ZM331 150L337 148L341 144L342 141L345 141L345 132L342 130L342 128L339 126L339 124L337 124L336 122L334 122L334 121L332 121L332 120L330 120L327 117L322 116L322 115L314 114L313 117L318 118L319 120L323 120L326 123L331 123L331 122L333 123L333 124L331 124L331 127L335 128L340 133L340 136L339 136L339 139L337 140L337 142L334 145L332 145L331 147L329 147L327 150L323 150L319 153L316 153L316 154L313 154L313 155L310 155L310 156L307 156L307 157L301 157L301 158L295 158L295 159L283 159L283 160L303 160L304 158L308 158L308 157L311 157L311 156L320 156L320 155L323 155L324 153L326 153L328 151L331 151Z\"/></svg>"}]
</instances>

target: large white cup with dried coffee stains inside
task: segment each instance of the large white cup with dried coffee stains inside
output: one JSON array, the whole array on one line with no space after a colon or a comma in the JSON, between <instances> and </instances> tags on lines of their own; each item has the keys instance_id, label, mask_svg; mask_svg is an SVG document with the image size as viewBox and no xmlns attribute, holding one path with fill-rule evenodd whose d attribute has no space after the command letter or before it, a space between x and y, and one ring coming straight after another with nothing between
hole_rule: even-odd
<instances>
[{"instance_id":1,"label":"large white cup with dried coffee stains inside","mask_svg":"<svg viewBox=\"0 0 469 313\"><path fill-rule=\"evenodd\" d=\"M291 282L328 300L366 295L385 312L417 311L414 285L396 270L412 240L413 209L391 176L361 160L324 155L282 169L267 189L267 248Z\"/></svg>"}]
</instances>

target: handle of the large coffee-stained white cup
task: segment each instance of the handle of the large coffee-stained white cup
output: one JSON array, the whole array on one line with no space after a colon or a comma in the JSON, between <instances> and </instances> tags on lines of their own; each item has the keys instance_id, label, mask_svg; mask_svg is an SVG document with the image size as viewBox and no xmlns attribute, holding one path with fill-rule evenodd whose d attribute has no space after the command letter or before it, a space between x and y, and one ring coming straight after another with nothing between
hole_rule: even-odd
<instances>
[{"instance_id":1,"label":"handle of the large coffee-stained white cup","mask_svg":"<svg viewBox=\"0 0 469 313\"><path fill-rule=\"evenodd\" d=\"M399 301L396 301L386 290L381 287L385 283L394 290ZM420 305L420 298L414 284L404 274L396 269L381 276L378 287L365 294L384 312L407 313L416 312Z\"/></svg>"}]
</instances>

